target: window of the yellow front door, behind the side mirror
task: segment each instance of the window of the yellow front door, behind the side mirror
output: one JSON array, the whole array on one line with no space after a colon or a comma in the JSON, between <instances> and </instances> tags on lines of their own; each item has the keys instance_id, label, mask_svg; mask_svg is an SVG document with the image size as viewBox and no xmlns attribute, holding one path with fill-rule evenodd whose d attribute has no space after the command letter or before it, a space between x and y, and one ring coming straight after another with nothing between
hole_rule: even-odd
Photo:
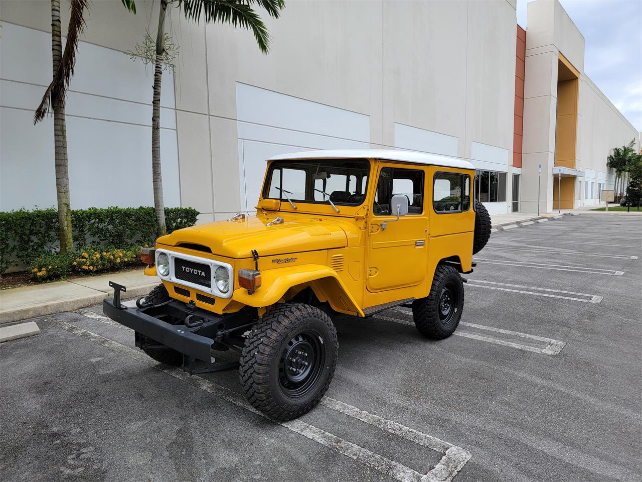
<instances>
[{"instance_id":1,"label":"window of the yellow front door, behind the side mirror","mask_svg":"<svg viewBox=\"0 0 642 482\"><path fill-rule=\"evenodd\" d=\"M424 172L415 169L385 167L381 169L372 212L390 215L390 201L395 194L408 197L408 215L421 214L424 205Z\"/></svg>"}]
</instances>

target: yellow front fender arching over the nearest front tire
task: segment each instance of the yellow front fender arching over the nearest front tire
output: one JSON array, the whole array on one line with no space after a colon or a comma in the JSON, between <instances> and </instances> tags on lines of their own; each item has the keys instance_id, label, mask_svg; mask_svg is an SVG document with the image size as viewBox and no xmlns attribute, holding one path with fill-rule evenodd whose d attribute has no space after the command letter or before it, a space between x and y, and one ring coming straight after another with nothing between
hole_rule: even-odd
<instances>
[{"instance_id":1,"label":"yellow front fender arching over the nearest front tire","mask_svg":"<svg viewBox=\"0 0 642 482\"><path fill-rule=\"evenodd\" d=\"M318 298L321 301L327 299L334 310L363 316L363 311L337 276L336 271L327 266L306 264L268 269L261 271L261 278L261 287L253 294L248 294L246 289L238 288L234 290L232 299L250 307L269 307L283 298L288 289L303 283L313 283L313 290ZM335 296L327 296L337 293L340 295L342 305L336 303Z\"/></svg>"}]
</instances>

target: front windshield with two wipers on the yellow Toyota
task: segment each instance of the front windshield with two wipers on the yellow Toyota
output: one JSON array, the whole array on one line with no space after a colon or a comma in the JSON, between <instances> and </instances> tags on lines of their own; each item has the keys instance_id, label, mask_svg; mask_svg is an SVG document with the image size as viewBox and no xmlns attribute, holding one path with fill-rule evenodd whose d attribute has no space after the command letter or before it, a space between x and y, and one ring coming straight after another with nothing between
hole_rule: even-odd
<instances>
[{"instance_id":1,"label":"front windshield with two wipers on the yellow Toyota","mask_svg":"<svg viewBox=\"0 0 642 482\"><path fill-rule=\"evenodd\" d=\"M369 173L366 159L277 161L270 166L263 197L295 204L359 206L365 201Z\"/></svg>"}]
</instances>

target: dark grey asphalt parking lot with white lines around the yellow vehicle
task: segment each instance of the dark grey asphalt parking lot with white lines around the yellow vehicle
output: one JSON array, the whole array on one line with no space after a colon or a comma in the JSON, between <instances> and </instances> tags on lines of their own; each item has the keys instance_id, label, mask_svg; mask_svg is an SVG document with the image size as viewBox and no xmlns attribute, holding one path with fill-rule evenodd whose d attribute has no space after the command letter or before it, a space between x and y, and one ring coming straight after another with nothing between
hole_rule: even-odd
<instances>
[{"instance_id":1,"label":"dark grey asphalt parking lot with white lines around the yellow vehicle","mask_svg":"<svg viewBox=\"0 0 642 482\"><path fill-rule=\"evenodd\" d=\"M285 424L235 372L153 362L101 307L35 319L0 345L0 479L639 481L642 219L536 222L475 258L446 340L405 308L336 318L327 396Z\"/></svg>"}]
</instances>

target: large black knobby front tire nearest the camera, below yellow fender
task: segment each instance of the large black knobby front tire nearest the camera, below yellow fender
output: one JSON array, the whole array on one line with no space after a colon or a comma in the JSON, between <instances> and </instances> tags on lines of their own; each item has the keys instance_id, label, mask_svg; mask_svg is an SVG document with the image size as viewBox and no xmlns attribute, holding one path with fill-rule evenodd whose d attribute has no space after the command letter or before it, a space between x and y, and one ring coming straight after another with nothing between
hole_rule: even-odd
<instances>
[{"instance_id":1,"label":"large black knobby front tire nearest the camera, below yellow fender","mask_svg":"<svg viewBox=\"0 0 642 482\"><path fill-rule=\"evenodd\" d=\"M295 340L308 336L320 339L320 351L315 352L315 361L311 361L316 371L310 369L310 378L304 379L311 383L308 391L293 396L282 381L287 368L284 364L291 359L286 353L302 346ZM239 367L243 392L252 406L274 420L297 418L313 409L327 391L334 376L338 349L332 320L320 309L303 303L276 305L252 326L245 340Z\"/></svg>"}]
</instances>

